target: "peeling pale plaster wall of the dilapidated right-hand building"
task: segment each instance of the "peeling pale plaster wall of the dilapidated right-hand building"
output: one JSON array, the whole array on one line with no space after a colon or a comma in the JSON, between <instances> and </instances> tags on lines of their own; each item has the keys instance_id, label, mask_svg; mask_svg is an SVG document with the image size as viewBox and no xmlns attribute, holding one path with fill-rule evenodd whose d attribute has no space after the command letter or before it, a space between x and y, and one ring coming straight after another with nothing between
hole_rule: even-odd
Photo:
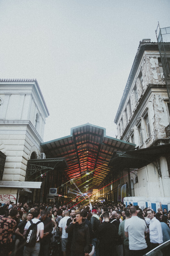
<instances>
[{"instance_id":1,"label":"peeling pale plaster wall of the dilapidated right-hand building","mask_svg":"<svg viewBox=\"0 0 170 256\"><path fill-rule=\"evenodd\" d=\"M124 130L118 133L118 138L126 140L127 136L131 136L133 130L134 141L139 148L147 148L155 145L158 140L167 140L165 127L169 124L170 115L167 107L169 102L165 81L160 76L160 68L158 64L160 54L158 50L145 50L138 68L133 75L133 81L129 87L129 92L124 100L122 112L117 121L117 127L123 119ZM141 74L143 75L143 83L141 83ZM135 87L137 95L135 94ZM137 96L137 97L136 97ZM131 114L128 105L131 101ZM128 122L126 122L124 110L127 109ZM150 136L147 134L146 113L150 125ZM140 145L139 131L137 130L136 120L140 118L143 144ZM131 138L130 138L130 142ZM158 142L160 143L160 142ZM167 161L165 157L160 157L160 169L162 178L158 176L158 169L154 163L148 164L137 171L138 183L134 184L135 196L170 196L170 178L168 172ZM132 177L132 175L131 175ZM128 177L124 177L124 184L128 182Z\"/></svg>"}]
</instances>

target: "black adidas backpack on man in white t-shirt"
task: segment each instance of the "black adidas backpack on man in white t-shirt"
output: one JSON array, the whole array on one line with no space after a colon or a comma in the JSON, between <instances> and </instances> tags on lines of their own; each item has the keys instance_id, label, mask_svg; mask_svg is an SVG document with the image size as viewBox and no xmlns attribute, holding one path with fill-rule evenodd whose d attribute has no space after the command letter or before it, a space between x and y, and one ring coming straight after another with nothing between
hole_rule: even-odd
<instances>
[{"instance_id":1,"label":"black adidas backpack on man in white t-shirt","mask_svg":"<svg viewBox=\"0 0 170 256\"><path fill-rule=\"evenodd\" d=\"M29 222L31 223L31 225L29 226L27 233L25 235L25 246L34 247L39 237L39 235L37 237L37 225L41 221L38 221L37 223L33 223L32 220L29 220Z\"/></svg>"}]
</instances>

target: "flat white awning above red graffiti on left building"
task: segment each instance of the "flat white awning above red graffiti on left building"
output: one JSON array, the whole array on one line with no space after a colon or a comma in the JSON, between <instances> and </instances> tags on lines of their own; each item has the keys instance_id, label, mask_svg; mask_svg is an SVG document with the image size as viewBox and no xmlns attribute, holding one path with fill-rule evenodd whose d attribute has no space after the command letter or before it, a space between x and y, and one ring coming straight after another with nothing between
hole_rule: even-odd
<instances>
[{"instance_id":1,"label":"flat white awning above red graffiti on left building","mask_svg":"<svg viewBox=\"0 0 170 256\"><path fill-rule=\"evenodd\" d=\"M2 188L40 189L42 182L33 181L0 181Z\"/></svg>"}]
</instances>

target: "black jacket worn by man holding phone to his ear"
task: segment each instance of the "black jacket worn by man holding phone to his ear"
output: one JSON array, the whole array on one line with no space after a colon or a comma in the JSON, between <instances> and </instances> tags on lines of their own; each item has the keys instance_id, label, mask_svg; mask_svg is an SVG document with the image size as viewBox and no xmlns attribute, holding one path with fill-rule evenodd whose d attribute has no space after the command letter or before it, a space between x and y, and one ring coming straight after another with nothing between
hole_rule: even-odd
<instances>
[{"instance_id":1,"label":"black jacket worn by man holding phone to his ear","mask_svg":"<svg viewBox=\"0 0 170 256\"><path fill-rule=\"evenodd\" d=\"M66 233L72 233L71 251L74 253L88 253L90 247L90 232L85 221L82 224L70 223Z\"/></svg>"}]
</instances>

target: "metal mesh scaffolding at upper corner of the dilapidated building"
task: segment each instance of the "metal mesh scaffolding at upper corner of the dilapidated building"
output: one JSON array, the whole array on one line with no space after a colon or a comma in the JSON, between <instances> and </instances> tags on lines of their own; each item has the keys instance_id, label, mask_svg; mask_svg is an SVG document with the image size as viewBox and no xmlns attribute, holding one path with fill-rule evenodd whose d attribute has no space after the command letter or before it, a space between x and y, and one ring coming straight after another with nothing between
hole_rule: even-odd
<instances>
[{"instance_id":1,"label":"metal mesh scaffolding at upper corner of the dilapidated building","mask_svg":"<svg viewBox=\"0 0 170 256\"><path fill-rule=\"evenodd\" d=\"M155 32L162 62L163 75L165 78L167 93L170 102L170 27L160 28L158 22L158 27Z\"/></svg>"}]
</instances>

